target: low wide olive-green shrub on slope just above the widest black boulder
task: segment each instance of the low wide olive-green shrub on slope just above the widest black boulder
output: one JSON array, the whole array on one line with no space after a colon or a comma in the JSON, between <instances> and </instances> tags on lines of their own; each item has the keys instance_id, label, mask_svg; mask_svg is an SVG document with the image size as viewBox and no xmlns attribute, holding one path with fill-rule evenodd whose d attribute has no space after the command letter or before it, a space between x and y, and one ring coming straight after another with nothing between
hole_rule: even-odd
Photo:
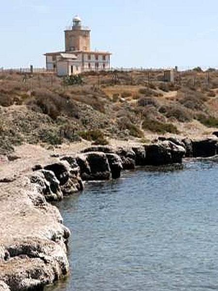
<instances>
[{"instance_id":1,"label":"low wide olive-green shrub on slope just above the widest black boulder","mask_svg":"<svg viewBox=\"0 0 218 291\"><path fill-rule=\"evenodd\" d=\"M179 131L177 128L171 123L162 123L157 120L145 119L142 124L143 129L148 129L157 133L174 133L177 134Z\"/></svg>"}]
</instances>

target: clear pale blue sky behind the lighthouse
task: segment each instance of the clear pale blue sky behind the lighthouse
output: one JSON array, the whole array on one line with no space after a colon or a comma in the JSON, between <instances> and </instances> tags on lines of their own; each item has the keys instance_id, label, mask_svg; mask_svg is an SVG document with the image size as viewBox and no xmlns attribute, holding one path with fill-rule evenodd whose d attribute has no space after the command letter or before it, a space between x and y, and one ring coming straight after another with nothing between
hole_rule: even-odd
<instances>
[{"instance_id":1,"label":"clear pale blue sky behind the lighthouse","mask_svg":"<svg viewBox=\"0 0 218 291\"><path fill-rule=\"evenodd\" d=\"M43 66L77 14L113 66L218 67L218 0L2 0L0 67Z\"/></svg>"}]
</instances>

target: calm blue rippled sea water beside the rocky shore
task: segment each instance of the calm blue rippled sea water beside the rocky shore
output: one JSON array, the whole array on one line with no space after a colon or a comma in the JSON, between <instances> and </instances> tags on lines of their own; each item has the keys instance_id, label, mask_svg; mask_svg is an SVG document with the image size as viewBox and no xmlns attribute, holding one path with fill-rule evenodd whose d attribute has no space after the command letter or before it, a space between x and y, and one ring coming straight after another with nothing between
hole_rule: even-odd
<instances>
[{"instance_id":1,"label":"calm blue rippled sea water beside the rocky shore","mask_svg":"<svg viewBox=\"0 0 218 291\"><path fill-rule=\"evenodd\" d=\"M218 163L126 172L59 209L71 275L46 291L218 290Z\"/></svg>"}]
</instances>

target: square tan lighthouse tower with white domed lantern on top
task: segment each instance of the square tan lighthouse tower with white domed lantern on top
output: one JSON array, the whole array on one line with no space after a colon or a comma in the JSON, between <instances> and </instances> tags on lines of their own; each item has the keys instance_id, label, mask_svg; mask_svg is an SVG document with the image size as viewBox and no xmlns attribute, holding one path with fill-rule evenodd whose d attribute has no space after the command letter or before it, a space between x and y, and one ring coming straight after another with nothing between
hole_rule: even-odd
<instances>
[{"instance_id":1,"label":"square tan lighthouse tower with white domed lantern on top","mask_svg":"<svg viewBox=\"0 0 218 291\"><path fill-rule=\"evenodd\" d=\"M90 51L90 32L88 27L82 27L79 16L73 18L73 26L65 30L65 51Z\"/></svg>"}]
</instances>

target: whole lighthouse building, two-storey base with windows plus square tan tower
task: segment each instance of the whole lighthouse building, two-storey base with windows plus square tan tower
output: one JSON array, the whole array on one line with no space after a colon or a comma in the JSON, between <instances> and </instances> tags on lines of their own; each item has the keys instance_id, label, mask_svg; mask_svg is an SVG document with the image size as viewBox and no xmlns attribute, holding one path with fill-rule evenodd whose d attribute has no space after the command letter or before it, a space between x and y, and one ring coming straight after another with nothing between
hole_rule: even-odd
<instances>
[{"instance_id":1,"label":"whole lighthouse building, two-storey base with windows plus square tan tower","mask_svg":"<svg viewBox=\"0 0 218 291\"><path fill-rule=\"evenodd\" d=\"M101 71L110 68L108 51L92 51L91 30L81 25L76 16L73 26L65 30L65 51L46 53L46 68L54 70L58 76L74 75L85 71Z\"/></svg>"}]
</instances>

